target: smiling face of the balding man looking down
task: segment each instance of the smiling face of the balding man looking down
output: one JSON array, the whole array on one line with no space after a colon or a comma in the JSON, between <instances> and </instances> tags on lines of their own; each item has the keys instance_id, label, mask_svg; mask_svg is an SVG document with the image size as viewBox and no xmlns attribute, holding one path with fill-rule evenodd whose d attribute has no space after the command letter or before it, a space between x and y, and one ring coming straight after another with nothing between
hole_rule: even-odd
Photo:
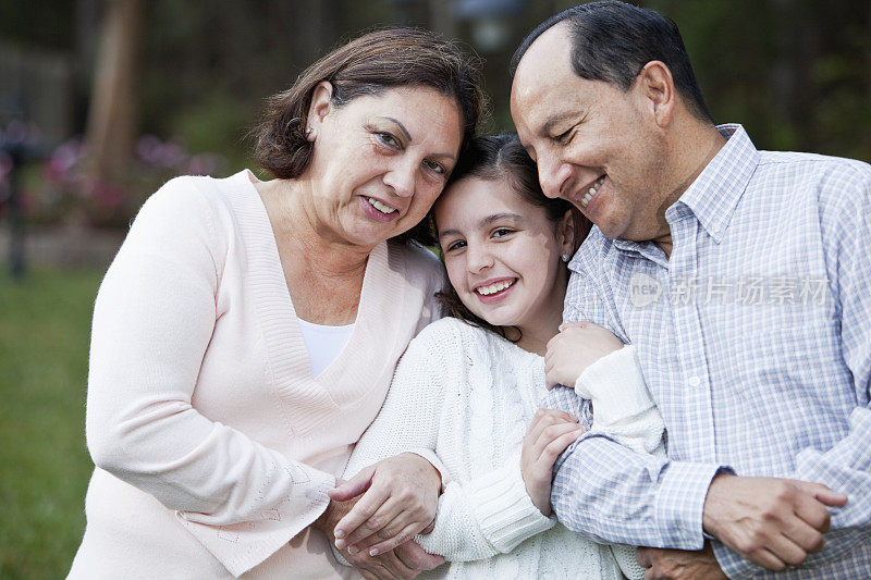
<instances>
[{"instance_id":1,"label":"smiling face of the balding man looking down","mask_svg":"<svg viewBox=\"0 0 871 580\"><path fill-rule=\"evenodd\" d=\"M511 92L512 118L544 194L574 203L605 236L634 240L658 235L666 195L662 135L639 85L624 92L580 78L568 25L556 24L524 54Z\"/></svg>"}]
</instances>

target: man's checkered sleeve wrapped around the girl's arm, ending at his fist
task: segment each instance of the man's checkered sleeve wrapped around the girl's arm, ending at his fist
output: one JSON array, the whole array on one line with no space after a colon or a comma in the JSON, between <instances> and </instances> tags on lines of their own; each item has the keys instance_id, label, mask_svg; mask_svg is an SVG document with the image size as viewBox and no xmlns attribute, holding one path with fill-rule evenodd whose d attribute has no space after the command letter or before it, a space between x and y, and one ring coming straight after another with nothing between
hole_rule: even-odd
<instances>
[{"instance_id":1,"label":"man's checkered sleeve wrapped around the girl's arm, ending at his fist","mask_svg":"<svg viewBox=\"0 0 871 580\"><path fill-rule=\"evenodd\" d=\"M563 322L587 320L627 342L615 322L608 288L594 269L601 234L594 231L572 261ZM542 407L562 409L589 421L589 400L557 386ZM592 422L594 424L594 421ZM701 550L702 508L711 480L727 466L672 461L636 453L601 431L585 433L554 465L551 504L568 529L599 543Z\"/></svg>"}]
</instances>

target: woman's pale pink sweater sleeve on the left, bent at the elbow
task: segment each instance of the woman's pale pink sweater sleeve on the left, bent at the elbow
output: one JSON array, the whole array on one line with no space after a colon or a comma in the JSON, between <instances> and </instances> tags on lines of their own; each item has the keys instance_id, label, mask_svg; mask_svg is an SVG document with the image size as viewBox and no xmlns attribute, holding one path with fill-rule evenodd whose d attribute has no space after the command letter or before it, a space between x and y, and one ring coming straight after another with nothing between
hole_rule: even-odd
<instances>
[{"instance_id":1,"label":"woman's pale pink sweater sleeve on the left, bent at the elbow","mask_svg":"<svg viewBox=\"0 0 871 580\"><path fill-rule=\"evenodd\" d=\"M191 177L136 218L95 305L86 434L98 468L176 510L240 576L320 516L334 478L192 405L228 243L214 219Z\"/></svg>"}]
</instances>

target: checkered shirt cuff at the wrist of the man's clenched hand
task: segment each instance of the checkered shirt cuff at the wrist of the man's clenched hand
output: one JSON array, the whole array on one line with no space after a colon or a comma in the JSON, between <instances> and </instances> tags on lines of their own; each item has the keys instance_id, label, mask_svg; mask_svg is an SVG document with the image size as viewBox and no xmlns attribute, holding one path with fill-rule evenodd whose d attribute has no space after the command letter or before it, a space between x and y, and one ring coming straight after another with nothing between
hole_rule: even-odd
<instances>
[{"instance_id":1,"label":"checkered shirt cuff at the wrist of the man's clenched hand","mask_svg":"<svg viewBox=\"0 0 871 580\"><path fill-rule=\"evenodd\" d=\"M708 488L714 476L731 472L716 464L671 461L655 498L657 528L663 545L679 550L701 550L702 513Z\"/></svg>"}]
</instances>

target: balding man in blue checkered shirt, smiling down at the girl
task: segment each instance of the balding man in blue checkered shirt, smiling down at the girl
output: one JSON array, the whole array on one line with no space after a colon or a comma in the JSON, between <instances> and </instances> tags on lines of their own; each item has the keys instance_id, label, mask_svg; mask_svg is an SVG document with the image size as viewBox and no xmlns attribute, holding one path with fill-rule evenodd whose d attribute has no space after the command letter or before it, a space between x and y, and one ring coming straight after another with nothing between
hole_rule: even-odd
<instances>
[{"instance_id":1,"label":"balding man in blue checkered shirt, smiling down at the girl","mask_svg":"<svg viewBox=\"0 0 871 580\"><path fill-rule=\"evenodd\" d=\"M580 439L560 520L672 548L639 552L651 576L871 578L871 166L715 126L674 24L622 2L543 23L513 71L544 193L598 226L564 321L638 345L668 430L666 460Z\"/></svg>"}]
</instances>

